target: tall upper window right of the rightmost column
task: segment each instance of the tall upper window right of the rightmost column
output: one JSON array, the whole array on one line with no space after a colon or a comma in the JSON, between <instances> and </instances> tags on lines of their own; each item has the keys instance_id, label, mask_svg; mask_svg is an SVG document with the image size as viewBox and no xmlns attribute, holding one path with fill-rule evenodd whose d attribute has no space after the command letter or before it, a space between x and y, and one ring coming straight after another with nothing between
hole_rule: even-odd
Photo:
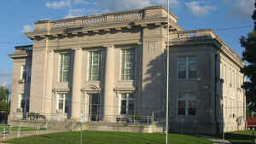
<instances>
[{"instance_id":1,"label":"tall upper window right of the rightmost column","mask_svg":"<svg viewBox=\"0 0 256 144\"><path fill-rule=\"evenodd\" d=\"M126 55L129 53L127 52L128 50L131 50L131 54L133 57L131 60L133 61L126 61ZM125 56L125 58L124 58ZM122 81L129 81L129 80L134 80L135 79L135 72L136 72L136 49L135 48L125 48L120 50L120 79ZM124 61L125 60L125 61ZM131 67L127 66L128 63L131 63ZM124 67L124 68L123 68ZM126 69L130 69L131 73L126 73ZM130 78L127 78L130 76Z\"/></svg>"}]
</instances>

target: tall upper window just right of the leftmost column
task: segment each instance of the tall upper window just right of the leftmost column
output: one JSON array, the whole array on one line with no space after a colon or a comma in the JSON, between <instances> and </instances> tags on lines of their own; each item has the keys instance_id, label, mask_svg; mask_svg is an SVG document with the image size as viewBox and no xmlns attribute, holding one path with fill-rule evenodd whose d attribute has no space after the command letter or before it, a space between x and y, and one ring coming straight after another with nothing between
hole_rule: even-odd
<instances>
[{"instance_id":1,"label":"tall upper window just right of the leftmost column","mask_svg":"<svg viewBox=\"0 0 256 144\"><path fill-rule=\"evenodd\" d=\"M69 60L68 60L68 66L67 66L67 70L64 68L65 66L62 66L62 63L64 63L65 61L65 56L62 57L62 55L68 55L69 56ZM70 60L71 60L71 55L70 53L66 52L66 53L60 53L60 60L59 60L59 82L68 82L69 80L69 75L70 75ZM67 79L64 79L64 72L67 72Z\"/></svg>"}]
</instances>

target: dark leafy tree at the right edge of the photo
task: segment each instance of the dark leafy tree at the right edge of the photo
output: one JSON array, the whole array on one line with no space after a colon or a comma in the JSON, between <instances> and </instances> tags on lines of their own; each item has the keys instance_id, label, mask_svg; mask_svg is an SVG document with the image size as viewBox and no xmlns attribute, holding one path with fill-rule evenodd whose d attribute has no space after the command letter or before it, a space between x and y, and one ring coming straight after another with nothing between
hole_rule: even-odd
<instances>
[{"instance_id":1,"label":"dark leafy tree at the right edge of the photo","mask_svg":"<svg viewBox=\"0 0 256 144\"><path fill-rule=\"evenodd\" d=\"M254 3L256 8L256 2ZM254 9L252 19L254 21L253 32L247 34L247 37L241 37L241 47L245 48L242 53L242 59L247 61L247 66L241 68L249 81L242 85L247 96L247 104L253 111L256 110L256 9Z\"/></svg>"}]
</instances>

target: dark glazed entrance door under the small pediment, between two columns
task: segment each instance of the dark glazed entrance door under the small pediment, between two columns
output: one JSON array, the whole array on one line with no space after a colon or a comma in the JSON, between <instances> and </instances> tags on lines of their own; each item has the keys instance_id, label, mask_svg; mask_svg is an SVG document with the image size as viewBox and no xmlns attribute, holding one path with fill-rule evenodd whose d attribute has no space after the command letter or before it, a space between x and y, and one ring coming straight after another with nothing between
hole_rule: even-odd
<instances>
[{"instance_id":1,"label":"dark glazed entrance door under the small pediment, between two columns","mask_svg":"<svg viewBox=\"0 0 256 144\"><path fill-rule=\"evenodd\" d=\"M89 120L97 122L99 121L100 95L91 94L89 102Z\"/></svg>"}]
</instances>

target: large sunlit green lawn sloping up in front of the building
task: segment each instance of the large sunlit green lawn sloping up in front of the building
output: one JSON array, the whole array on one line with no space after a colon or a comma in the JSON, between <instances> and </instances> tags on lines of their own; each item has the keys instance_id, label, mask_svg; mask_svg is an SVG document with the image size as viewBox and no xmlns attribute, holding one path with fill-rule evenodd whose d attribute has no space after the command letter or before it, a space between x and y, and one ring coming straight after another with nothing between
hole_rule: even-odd
<instances>
[{"instance_id":1,"label":"large sunlit green lawn sloping up in front of the building","mask_svg":"<svg viewBox=\"0 0 256 144\"><path fill-rule=\"evenodd\" d=\"M171 134L170 144L212 144L205 138L190 135ZM47 135L33 135L10 141L13 144L79 144L80 132L63 132ZM165 134L141 134L125 132L83 131L84 144L164 144Z\"/></svg>"}]
</instances>

